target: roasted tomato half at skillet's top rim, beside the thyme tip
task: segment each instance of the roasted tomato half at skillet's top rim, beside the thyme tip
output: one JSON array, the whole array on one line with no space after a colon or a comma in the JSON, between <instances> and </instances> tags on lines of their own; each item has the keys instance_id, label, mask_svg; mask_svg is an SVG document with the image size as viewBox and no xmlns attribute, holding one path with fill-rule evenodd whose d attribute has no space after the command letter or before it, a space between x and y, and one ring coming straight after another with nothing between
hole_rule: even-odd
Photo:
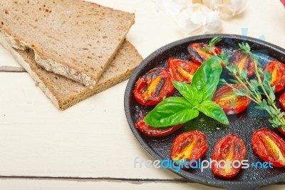
<instances>
[{"instance_id":1,"label":"roasted tomato half at skillet's top rim, beside the thyme tip","mask_svg":"<svg viewBox=\"0 0 285 190\"><path fill-rule=\"evenodd\" d=\"M212 51L213 52L207 52L204 49L209 48L209 44L205 44L205 43L193 43L193 44L189 44L187 47L187 51L188 54L190 56L190 59L198 64L201 65L204 61L207 61L208 59L210 59L212 56L214 56L214 54L221 54L222 50L219 49L217 46L212 47Z\"/></svg>"}]
</instances>

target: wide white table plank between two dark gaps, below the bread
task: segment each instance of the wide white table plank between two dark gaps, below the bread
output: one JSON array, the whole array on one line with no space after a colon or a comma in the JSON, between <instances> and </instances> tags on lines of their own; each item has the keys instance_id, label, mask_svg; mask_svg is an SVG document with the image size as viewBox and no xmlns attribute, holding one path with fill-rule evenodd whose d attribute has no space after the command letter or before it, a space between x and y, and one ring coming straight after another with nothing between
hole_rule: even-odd
<instances>
[{"instance_id":1,"label":"wide white table plank between two dark gaps, below the bread","mask_svg":"<svg viewBox=\"0 0 285 190\"><path fill-rule=\"evenodd\" d=\"M1 176L180 178L134 168L136 157L152 158L125 119L126 82L66 111L58 111L26 73L1 73L0 82Z\"/></svg>"}]
</instances>

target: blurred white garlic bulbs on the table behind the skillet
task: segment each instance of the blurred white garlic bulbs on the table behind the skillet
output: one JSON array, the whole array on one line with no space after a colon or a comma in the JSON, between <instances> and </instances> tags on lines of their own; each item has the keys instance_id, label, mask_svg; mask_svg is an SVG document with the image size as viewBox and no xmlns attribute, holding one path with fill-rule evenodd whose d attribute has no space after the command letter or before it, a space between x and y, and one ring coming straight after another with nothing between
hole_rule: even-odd
<instances>
[{"instance_id":1,"label":"blurred white garlic bulbs on the table behind the skillet","mask_svg":"<svg viewBox=\"0 0 285 190\"><path fill-rule=\"evenodd\" d=\"M186 35L213 34L222 28L221 18L241 14L247 0L156 0L156 6L173 16Z\"/></svg>"}]
</instances>

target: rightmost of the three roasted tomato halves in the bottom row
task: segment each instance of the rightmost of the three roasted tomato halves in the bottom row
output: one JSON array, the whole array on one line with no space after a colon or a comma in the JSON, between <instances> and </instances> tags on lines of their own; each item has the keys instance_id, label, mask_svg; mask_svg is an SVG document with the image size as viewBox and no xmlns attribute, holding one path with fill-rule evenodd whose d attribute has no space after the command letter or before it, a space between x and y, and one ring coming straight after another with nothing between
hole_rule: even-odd
<instances>
[{"instance_id":1,"label":"rightmost of the three roasted tomato halves in the bottom row","mask_svg":"<svg viewBox=\"0 0 285 190\"><path fill-rule=\"evenodd\" d=\"M252 135L252 149L264 161L272 166L285 166L285 141L274 131L259 129Z\"/></svg>"}]
</instances>

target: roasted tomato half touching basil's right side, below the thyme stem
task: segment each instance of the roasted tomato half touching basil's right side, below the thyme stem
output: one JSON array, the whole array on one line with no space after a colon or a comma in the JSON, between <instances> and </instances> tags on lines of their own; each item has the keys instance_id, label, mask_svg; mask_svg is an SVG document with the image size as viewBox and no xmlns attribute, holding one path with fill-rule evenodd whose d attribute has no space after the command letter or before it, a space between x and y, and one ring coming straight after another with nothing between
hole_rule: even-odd
<instances>
[{"instance_id":1,"label":"roasted tomato half touching basil's right side, below the thyme stem","mask_svg":"<svg viewBox=\"0 0 285 190\"><path fill-rule=\"evenodd\" d=\"M244 89L244 86L239 84L231 84L236 89ZM215 91L212 101L216 102L227 115L239 114L249 106L251 99L247 96L237 96L231 87L223 85Z\"/></svg>"}]
</instances>

